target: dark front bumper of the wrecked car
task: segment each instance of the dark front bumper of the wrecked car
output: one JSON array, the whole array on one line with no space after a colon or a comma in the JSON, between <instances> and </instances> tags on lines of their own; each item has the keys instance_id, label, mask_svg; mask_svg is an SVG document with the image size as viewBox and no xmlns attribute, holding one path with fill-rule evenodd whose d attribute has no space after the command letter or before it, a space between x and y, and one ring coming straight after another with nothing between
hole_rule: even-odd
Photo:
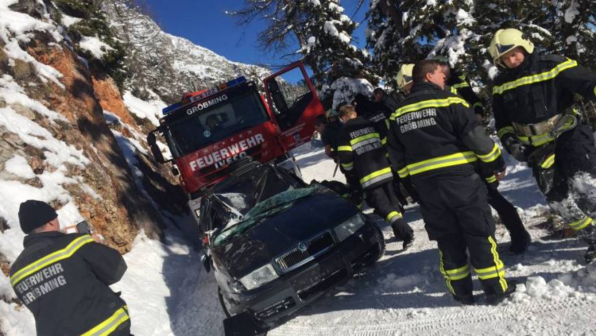
<instances>
[{"instance_id":1,"label":"dark front bumper of the wrecked car","mask_svg":"<svg viewBox=\"0 0 596 336\"><path fill-rule=\"evenodd\" d=\"M384 250L383 239L375 224L367 223L330 251L271 283L243 293L225 293L229 301L237 302L229 313L248 311L258 323L271 325L305 307L377 258Z\"/></svg>"}]
</instances>

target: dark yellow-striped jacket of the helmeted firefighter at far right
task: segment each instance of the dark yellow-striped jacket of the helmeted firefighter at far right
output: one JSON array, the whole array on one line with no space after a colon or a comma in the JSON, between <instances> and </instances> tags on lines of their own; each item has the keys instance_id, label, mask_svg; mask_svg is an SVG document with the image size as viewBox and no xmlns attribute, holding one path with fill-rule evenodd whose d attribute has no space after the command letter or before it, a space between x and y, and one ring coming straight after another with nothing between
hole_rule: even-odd
<instances>
[{"instance_id":1,"label":"dark yellow-striped jacket of the helmeted firefighter at far right","mask_svg":"<svg viewBox=\"0 0 596 336\"><path fill-rule=\"evenodd\" d=\"M517 134L513 123L537 125L573 106L575 93L596 100L596 73L575 60L532 53L516 69L495 78L493 112L501 141L514 136L519 143L538 147L554 141L548 132Z\"/></svg>"}]
</instances>

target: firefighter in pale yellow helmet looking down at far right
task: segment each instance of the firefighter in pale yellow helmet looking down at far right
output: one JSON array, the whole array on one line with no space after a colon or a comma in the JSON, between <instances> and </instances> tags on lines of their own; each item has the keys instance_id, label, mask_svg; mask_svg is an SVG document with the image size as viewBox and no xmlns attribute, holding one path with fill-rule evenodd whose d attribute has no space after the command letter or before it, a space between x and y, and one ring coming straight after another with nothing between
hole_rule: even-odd
<instances>
[{"instance_id":1,"label":"firefighter in pale yellow helmet looking down at far right","mask_svg":"<svg viewBox=\"0 0 596 336\"><path fill-rule=\"evenodd\" d=\"M596 73L575 60L534 52L518 29L499 29L488 48L495 78L495 127L514 158L530 164L549 206L588 243L596 259L596 147L573 95L596 100Z\"/></svg>"}]
</instances>

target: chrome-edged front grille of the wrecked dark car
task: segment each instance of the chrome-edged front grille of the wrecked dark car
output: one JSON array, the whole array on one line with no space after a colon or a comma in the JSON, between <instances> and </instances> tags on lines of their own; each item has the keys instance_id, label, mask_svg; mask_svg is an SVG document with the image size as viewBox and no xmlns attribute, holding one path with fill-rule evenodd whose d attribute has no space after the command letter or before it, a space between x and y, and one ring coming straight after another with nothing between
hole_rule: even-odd
<instances>
[{"instance_id":1,"label":"chrome-edged front grille of the wrecked dark car","mask_svg":"<svg viewBox=\"0 0 596 336\"><path fill-rule=\"evenodd\" d=\"M332 248L333 236L331 232L327 231L322 235L310 239L306 244L306 251L301 251L296 247L275 259L275 263L277 263L277 266L280 267L282 272L290 272L292 269L308 263L314 257Z\"/></svg>"}]
</instances>

